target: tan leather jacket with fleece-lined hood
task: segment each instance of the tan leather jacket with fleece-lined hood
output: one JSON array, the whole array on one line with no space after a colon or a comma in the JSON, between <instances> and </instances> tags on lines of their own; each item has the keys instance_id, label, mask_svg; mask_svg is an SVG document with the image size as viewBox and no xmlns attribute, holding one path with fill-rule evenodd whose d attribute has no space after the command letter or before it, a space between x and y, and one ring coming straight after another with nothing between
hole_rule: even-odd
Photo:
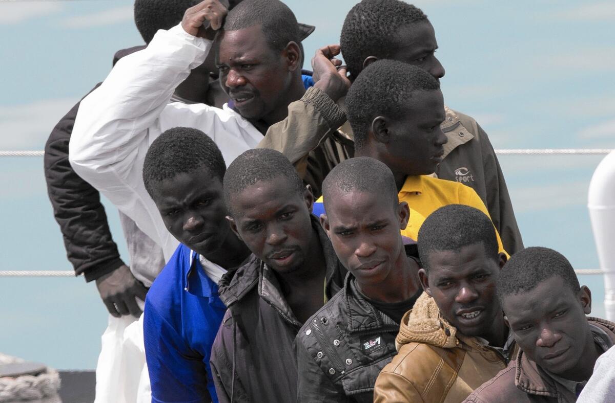
<instances>
[{"instance_id":1,"label":"tan leather jacket with fleece-lined hood","mask_svg":"<svg viewBox=\"0 0 615 403\"><path fill-rule=\"evenodd\" d=\"M506 367L515 346L509 337L500 353L464 336L427 294L404 315L395 344L399 353L378 376L374 402L462 402Z\"/></svg>"}]
</instances>

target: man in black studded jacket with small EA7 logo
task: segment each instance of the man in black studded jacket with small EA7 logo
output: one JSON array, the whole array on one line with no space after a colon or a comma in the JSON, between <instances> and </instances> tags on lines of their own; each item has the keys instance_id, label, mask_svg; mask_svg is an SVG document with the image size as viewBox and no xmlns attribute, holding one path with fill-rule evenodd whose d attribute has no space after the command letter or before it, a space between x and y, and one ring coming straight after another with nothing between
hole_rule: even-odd
<instances>
[{"instance_id":1,"label":"man in black studded jacket with small EA7 logo","mask_svg":"<svg viewBox=\"0 0 615 403\"><path fill-rule=\"evenodd\" d=\"M400 234L410 210L391 170L368 157L333 168L323 194L320 222L350 274L295 340L297 401L373 402L376 377L397 353L402 316L423 293L416 242Z\"/></svg>"}]
</instances>

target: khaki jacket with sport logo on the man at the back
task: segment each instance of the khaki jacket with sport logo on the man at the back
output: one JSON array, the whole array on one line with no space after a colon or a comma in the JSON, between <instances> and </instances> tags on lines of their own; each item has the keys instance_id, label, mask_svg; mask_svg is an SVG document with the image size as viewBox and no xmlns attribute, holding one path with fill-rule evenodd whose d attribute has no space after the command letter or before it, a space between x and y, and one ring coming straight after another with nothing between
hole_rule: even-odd
<instances>
[{"instance_id":1,"label":"khaki jacket with sport logo on the man at the back","mask_svg":"<svg viewBox=\"0 0 615 403\"><path fill-rule=\"evenodd\" d=\"M259 148L273 148L287 156L316 197L320 196L320 186L328 172L354 156L354 135L346 121L344 101L338 104L323 91L309 88L303 98L288 106L288 118L272 125L258 144ZM446 120L440 127L448 143L436 174L476 191L504 249L512 255L523 249L523 241L491 142L473 118L448 107L445 110Z\"/></svg>"}]
</instances>

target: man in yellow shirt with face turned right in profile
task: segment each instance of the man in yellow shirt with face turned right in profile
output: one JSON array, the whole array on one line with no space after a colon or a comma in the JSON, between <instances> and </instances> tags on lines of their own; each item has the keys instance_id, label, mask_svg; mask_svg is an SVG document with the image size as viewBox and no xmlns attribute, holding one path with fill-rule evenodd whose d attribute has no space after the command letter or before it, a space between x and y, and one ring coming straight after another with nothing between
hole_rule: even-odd
<instances>
[{"instance_id":1,"label":"man in yellow shirt with face turned right in profile","mask_svg":"<svg viewBox=\"0 0 615 403\"><path fill-rule=\"evenodd\" d=\"M470 205L488 215L472 188L428 176L442 161L446 144L442 91L429 73L399 61L376 61L352 84L346 106L355 155L386 164L399 200L410 207L403 236L416 239L425 218L447 204ZM504 251L497 232L496 239Z\"/></svg>"}]
</instances>

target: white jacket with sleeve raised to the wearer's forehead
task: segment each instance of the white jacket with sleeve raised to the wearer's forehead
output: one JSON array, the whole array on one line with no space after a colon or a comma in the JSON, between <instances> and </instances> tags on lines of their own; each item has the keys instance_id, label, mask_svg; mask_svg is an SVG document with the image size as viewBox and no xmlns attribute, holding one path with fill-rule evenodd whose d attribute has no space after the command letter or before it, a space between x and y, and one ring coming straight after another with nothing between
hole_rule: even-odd
<instances>
[{"instance_id":1,"label":"white jacket with sleeve raised to the wearer's forehead","mask_svg":"<svg viewBox=\"0 0 615 403\"><path fill-rule=\"evenodd\" d=\"M175 88L211 47L212 41L191 36L181 25L158 31L147 48L118 61L105 82L81 101L69 144L74 171L161 245L167 261L179 242L165 228L141 176L152 142L176 126L197 128L230 164L263 139L226 105L169 104Z\"/></svg>"}]
</instances>

